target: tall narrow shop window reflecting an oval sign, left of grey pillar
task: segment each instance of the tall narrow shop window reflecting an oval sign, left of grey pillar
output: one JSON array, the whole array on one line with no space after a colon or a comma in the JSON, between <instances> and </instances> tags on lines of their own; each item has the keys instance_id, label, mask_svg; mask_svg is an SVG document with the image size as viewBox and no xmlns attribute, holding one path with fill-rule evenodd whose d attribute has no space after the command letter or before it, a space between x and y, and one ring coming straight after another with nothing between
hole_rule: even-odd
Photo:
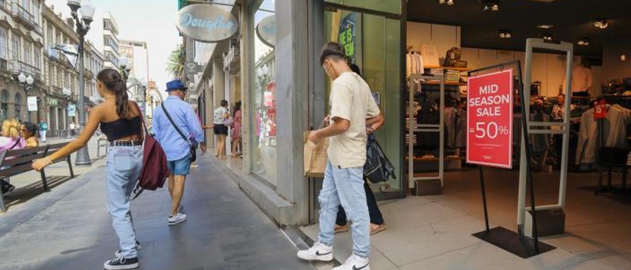
<instances>
[{"instance_id":1,"label":"tall narrow shop window reflecting an oval sign, left of grey pillar","mask_svg":"<svg viewBox=\"0 0 631 270\"><path fill-rule=\"evenodd\" d=\"M254 6L251 18L252 42L252 87L251 100L251 145L252 172L272 185L277 184L276 173L276 65L274 43L276 25L269 23L274 16L274 1L264 0ZM255 3L256 4L256 3Z\"/></svg>"}]
</instances>

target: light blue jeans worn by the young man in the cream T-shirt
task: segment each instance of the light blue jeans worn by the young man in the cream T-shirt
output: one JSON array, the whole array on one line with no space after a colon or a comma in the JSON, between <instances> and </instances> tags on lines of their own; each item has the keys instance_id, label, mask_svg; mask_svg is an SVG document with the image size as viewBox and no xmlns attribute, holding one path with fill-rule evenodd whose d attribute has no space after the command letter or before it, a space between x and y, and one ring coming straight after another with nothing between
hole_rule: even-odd
<instances>
[{"instance_id":1,"label":"light blue jeans worn by the young man in the cream T-shirt","mask_svg":"<svg viewBox=\"0 0 631 270\"><path fill-rule=\"evenodd\" d=\"M327 161L320 196L320 234L322 244L332 246L333 226L338 206L346 210L353 233L353 254L367 258L370 255L370 216L363 189L363 167L339 168Z\"/></svg>"}]
</instances>

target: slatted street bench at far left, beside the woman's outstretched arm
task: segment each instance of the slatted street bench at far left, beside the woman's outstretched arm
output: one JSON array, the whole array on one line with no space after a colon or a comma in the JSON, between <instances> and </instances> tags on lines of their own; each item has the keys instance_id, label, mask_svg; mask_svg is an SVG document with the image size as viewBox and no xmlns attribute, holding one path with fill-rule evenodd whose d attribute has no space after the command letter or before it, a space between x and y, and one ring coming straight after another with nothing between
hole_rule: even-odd
<instances>
[{"instance_id":1,"label":"slatted street bench at far left, beside the woman's outstretched arm","mask_svg":"<svg viewBox=\"0 0 631 270\"><path fill-rule=\"evenodd\" d=\"M2 151L0 153L0 179L32 171L33 160L49 156L52 153L59 151L59 149L66 146L66 144L68 143L46 144L36 148ZM70 177L74 178L73 165L70 161L70 156L60 158L59 160L53 160L52 163L57 163L59 161L66 161L68 163ZM40 177L42 178L44 191L49 191L48 182L46 181L46 173L44 170L40 171ZM0 195L0 212L5 211L6 205L4 204L4 198Z\"/></svg>"}]
</instances>

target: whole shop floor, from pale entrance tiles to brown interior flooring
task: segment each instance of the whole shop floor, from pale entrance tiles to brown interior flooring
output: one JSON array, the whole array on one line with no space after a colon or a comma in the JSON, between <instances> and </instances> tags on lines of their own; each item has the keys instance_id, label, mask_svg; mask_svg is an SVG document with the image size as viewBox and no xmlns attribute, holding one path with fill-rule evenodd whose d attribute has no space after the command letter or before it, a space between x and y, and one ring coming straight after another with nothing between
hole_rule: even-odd
<instances>
[{"instance_id":1,"label":"whole shop floor, from pale entrance tiles to brown interior flooring","mask_svg":"<svg viewBox=\"0 0 631 270\"><path fill-rule=\"evenodd\" d=\"M517 170L485 168L491 226L517 230ZM554 204L558 172L535 173L536 204ZM557 249L521 259L471 236L484 229L478 170L445 173L443 194L379 202L387 230L371 237L371 267L386 269L631 269L631 195L594 196L598 173L569 173L565 233ZM615 175L614 185L620 185ZM301 228L317 240L317 225ZM335 257L351 254L336 235Z\"/></svg>"}]
</instances>

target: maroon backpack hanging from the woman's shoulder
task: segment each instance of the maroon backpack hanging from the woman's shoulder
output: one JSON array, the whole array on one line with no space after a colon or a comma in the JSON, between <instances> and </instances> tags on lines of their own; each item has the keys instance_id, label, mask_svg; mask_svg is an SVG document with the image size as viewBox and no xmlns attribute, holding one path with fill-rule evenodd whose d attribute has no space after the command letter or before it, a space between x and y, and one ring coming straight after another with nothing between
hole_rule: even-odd
<instances>
[{"instance_id":1,"label":"maroon backpack hanging from the woman's shoulder","mask_svg":"<svg viewBox=\"0 0 631 270\"><path fill-rule=\"evenodd\" d=\"M136 104L138 112L142 111ZM162 146L158 143L153 136L147 130L147 126L144 123L144 117L141 115L141 120L144 126L144 144L143 144L143 169L141 170L140 177L138 178L138 184L134 188L134 197L136 199L145 189L155 191L158 187L163 187L165 180L168 177L167 167L167 155L164 153Z\"/></svg>"}]
</instances>

